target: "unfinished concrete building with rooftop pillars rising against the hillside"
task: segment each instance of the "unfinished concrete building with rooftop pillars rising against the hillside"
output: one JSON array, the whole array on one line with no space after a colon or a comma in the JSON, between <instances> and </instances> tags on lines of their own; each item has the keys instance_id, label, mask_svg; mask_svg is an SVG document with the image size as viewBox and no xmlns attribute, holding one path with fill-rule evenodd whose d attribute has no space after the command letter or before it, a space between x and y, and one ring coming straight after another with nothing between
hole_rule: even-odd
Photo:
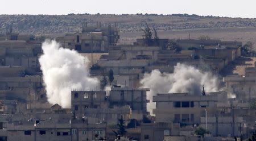
<instances>
[{"instance_id":1,"label":"unfinished concrete building with rooftop pillars rising against the hillside","mask_svg":"<svg viewBox=\"0 0 256 141\"><path fill-rule=\"evenodd\" d=\"M118 39L117 27L103 27L101 22L97 22L96 27L88 27L87 23L83 23L82 32L56 38L64 48L79 52L106 52L111 45L117 44Z\"/></svg>"}]
</instances>

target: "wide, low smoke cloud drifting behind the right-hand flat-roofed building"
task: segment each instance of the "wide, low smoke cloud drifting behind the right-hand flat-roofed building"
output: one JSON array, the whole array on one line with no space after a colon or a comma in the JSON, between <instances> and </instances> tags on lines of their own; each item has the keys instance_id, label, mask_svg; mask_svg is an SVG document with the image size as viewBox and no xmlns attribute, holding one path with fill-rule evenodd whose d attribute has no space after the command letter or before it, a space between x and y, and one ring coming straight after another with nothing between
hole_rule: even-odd
<instances>
[{"instance_id":1,"label":"wide, low smoke cloud drifting behind the right-hand flat-roofed building","mask_svg":"<svg viewBox=\"0 0 256 141\"><path fill-rule=\"evenodd\" d=\"M145 73L141 80L142 88L150 88L147 99L150 103L147 110L152 113L155 103L152 103L152 96L156 93L189 93L200 95L204 85L205 92L218 92L218 78L212 73L202 72L195 67L178 63L174 67L174 73L161 73L159 70L152 70Z\"/></svg>"}]
</instances>

